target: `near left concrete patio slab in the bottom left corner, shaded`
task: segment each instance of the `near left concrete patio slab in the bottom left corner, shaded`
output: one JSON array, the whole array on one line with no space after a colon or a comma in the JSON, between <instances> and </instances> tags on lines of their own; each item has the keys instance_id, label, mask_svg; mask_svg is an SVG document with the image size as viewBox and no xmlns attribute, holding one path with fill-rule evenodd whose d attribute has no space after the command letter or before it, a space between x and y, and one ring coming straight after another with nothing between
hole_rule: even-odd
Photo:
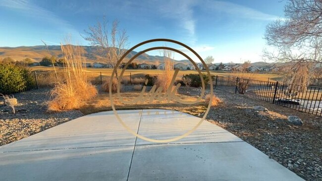
<instances>
[{"instance_id":1,"label":"near left concrete patio slab in the bottom left corner, shaded","mask_svg":"<svg viewBox=\"0 0 322 181\"><path fill-rule=\"evenodd\" d=\"M0 180L126 181L133 147L0 153Z\"/></svg>"}]
</instances>

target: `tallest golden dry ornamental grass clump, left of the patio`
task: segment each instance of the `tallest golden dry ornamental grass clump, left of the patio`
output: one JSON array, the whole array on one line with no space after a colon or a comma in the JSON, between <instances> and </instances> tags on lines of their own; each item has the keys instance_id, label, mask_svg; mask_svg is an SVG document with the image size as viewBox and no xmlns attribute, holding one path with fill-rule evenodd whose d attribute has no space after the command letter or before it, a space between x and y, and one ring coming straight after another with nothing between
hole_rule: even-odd
<instances>
[{"instance_id":1,"label":"tallest golden dry ornamental grass clump, left of the patio","mask_svg":"<svg viewBox=\"0 0 322 181\"><path fill-rule=\"evenodd\" d=\"M51 91L49 111L78 109L98 93L85 74L84 49L81 46L66 44L61 45L61 50L66 63L62 74L58 76L56 72L58 83Z\"/></svg>"}]
</instances>

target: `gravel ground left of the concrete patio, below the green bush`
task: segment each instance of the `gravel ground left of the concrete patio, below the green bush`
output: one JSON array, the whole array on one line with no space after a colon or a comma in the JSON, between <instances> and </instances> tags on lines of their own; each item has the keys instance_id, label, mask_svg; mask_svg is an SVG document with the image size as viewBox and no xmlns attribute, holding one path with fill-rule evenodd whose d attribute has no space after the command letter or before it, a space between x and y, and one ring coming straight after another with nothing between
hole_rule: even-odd
<instances>
[{"instance_id":1,"label":"gravel ground left of the concrete patio, below the green bush","mask_svg":"<svg viewBox=\"0 0 322 181\"><path fill-rule=\"evenodd\" d=\"M83 116L80 111L47 113L49 89L14 94L16 113L0 98L0 145L42 132L61 123Z\"/></svg>"}]
</instances>

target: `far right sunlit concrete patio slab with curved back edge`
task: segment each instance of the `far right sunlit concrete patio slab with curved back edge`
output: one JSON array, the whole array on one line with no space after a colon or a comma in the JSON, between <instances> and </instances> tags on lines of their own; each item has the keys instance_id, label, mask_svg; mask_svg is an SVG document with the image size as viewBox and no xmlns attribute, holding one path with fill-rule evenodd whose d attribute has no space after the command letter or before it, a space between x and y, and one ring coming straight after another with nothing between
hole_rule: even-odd
<instances>
[{"instance_id":1,"label":"far right sunlit concrete patio slab with curved back edge","mask_svg":"<svg viewBox=\"0 0 322 181\"><path fill-rule=\"evenodd\" d=\"M200 118L178 111L154 109L143 110L140 121L139 134L153 139L170 139L181 136L194 128ZM197 130L189 136L171 143L196 143L196 142L235 142L243 141L239 137L204 121ZM136 145L160 144L143 139L137 139Z\"/></svg>"}]
</instances>

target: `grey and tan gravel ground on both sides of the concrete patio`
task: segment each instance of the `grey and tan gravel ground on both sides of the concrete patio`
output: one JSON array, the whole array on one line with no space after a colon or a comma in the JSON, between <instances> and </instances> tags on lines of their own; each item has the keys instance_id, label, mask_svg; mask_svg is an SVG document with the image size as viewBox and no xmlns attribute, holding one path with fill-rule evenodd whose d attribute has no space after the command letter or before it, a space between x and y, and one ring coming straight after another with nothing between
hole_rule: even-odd
<instances>
[{"instance_id":1,"label":"grey and tan gravel ground on both sides of the concrete patio","mask_svg":"<svg viewBox=\"0 0 322 181\"><path fill-rule=\"evenodd\" d=\"M200 94L198 88L180 88ZM82 116L80 111L47 113L49 89L15 94L16 114L0 99L0 145L34 135ZM208 91L209 92L209 91ZM322 118L261 100L215 90L223 103L213 107L207 120L239 136L286 168L308 181L322 181ZM255 111L261 105L269 111ZM303 126L287 121L299 116Z\"/></svg>"}]
</instances>

